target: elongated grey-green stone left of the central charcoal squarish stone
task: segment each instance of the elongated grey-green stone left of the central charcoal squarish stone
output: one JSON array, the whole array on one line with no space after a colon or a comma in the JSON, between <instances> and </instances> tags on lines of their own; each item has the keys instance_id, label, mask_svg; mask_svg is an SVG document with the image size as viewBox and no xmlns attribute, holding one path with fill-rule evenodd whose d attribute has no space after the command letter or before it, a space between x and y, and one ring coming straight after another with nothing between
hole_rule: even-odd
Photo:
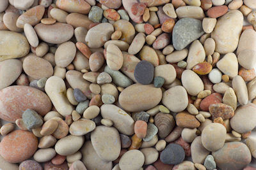
<instances>
[{"instance_id":1,"label":"elongated grey-green stone left of the central charcoal squarish stone","mask_svg":"<svg viewBox=\"0 0 256 170\"><path fill-rule=\"evenodd\" d=\"M125 76L120 71L114 71L108 66L104 68L104 71L112 77L113 83L115 83L117 86L125 88L129 85L132 85L132 80L130 78L127 78L127 76Z\"/></svg>"}]
</instances>

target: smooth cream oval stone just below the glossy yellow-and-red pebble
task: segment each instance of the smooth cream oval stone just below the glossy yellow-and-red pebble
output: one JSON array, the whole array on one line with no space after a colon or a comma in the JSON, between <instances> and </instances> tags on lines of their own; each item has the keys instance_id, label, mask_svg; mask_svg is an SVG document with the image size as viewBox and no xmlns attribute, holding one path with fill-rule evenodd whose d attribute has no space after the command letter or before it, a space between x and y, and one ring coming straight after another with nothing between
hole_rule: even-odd
<instances>
[{"instance_id":1,"label":"smooth cream oval stone just below the glossy yellow-and-red pebble","mask_svg":"<svg viewBox=\"0 0 256 170\"><path fill-rule=\"evenodd\" d=\"M181 75L182 85L191 96L197 96L199 92L204 90L204 83L201 78L190 69L183 71Z\"/></svg>"}]
</instances>

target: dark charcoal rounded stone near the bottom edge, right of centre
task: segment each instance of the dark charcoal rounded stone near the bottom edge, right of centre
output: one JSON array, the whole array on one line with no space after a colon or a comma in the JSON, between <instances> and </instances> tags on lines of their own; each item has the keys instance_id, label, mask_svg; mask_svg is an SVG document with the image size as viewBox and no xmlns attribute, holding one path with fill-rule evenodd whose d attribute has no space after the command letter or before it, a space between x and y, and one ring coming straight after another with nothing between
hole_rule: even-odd
<instances>
[{"instance_id":1,"label":"dark charcoal rounded stone near the bottom edge, right of centre","mask_svg":"<svg viewBox=\"0 0 256 170\"><path fill-rule=\"evenodd\" d=\"M180 164L184 158L184 149L175 143L167 145L160 154L160 160L164 164Z\"/></svg>"}]
</instances>

